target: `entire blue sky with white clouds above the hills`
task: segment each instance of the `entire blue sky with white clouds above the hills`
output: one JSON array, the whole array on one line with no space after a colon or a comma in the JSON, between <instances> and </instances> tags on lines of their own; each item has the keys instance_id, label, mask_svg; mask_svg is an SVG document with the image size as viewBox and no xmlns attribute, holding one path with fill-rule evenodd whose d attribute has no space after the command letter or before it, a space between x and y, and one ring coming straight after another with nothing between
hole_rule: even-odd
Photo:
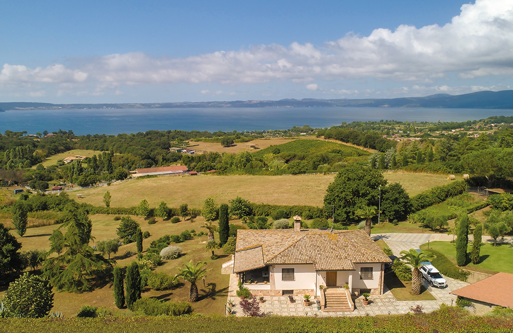
<instances>
[{"instance_id":1,"label":"entire blue sky with white clouds above the hills","mask_svg":"<svg viewBox=\"0 0 513 333\"><path fill-rule=\"evenodd\" d=\"M513 85L513 0L0 9L0 101L393 98Z\"/></svg>"}]
</instances>

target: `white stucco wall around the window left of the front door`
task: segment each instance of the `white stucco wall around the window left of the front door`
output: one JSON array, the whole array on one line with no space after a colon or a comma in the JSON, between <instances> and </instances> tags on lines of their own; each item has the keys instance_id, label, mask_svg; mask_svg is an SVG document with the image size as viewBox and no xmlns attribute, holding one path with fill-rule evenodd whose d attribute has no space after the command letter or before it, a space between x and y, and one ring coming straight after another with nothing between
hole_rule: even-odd
<instances>
[{"instance_id":1,"label":"white stucco wall around the window left of the front door","mask_svg":"<svg viewBox=\"0 0 513 333\"><path fill-rule=\"evenodd\" d=\"M283 268L294 268L294 281L282 281ZM315 289L316 276L313 265L274 265L274 287L277 290Z\"/></svg>"}]
</instances>

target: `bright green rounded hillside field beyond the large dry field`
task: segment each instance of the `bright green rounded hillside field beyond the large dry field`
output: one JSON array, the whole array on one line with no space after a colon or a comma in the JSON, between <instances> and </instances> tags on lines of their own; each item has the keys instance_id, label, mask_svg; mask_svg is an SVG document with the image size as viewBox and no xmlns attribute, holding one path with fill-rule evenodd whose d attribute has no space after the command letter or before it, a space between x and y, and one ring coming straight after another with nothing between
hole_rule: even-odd
<instances>
[{"instance_id":1,"label":"bright green rounded hillside field beyond the large dry field","mask_svg":"<svg viewBox=\"0 0 513 333\"><path fill-rule=\"evenodd\" d=\"M350 147L346 144L313 139L301 139L290 141L287 143L277 144L273 147L268 147L266 149L262 149L258 152L255 152L254 155L263 157L266 154L270 154L272 150L276 147L280 149L280 153L324 153L333 149L337 149L343 151L340 154L342 154L344 157L369 155L369 153L364 150L355 147Z\"/></svg>"}]
</instances>

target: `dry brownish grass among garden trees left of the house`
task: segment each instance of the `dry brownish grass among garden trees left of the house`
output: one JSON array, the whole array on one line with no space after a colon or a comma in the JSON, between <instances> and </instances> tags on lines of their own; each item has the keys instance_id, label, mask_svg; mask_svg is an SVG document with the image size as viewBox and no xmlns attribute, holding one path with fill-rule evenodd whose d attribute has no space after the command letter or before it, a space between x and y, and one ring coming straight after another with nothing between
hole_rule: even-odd
<instances>
[{"instance_id":1,"label":"dry brownish grass among garden trees left of the house","mask_svg":"<svg viewBox=\"0 0 513 333\"><path fill-rule=\"evenodd\" d=\"M116 228L120 221L114 221L113 215L91 215L89 216L93 222L92 235L95 237L95 242L117 238ZM179 235L184 230L195 230L196 232L206 231L201 226L204 223L203 218L199 217L191 223L189 220L181 221L176 224L172 224L170 221L163 221L157 219L157 223L149 225L142 217L133 217L137 222L141 224L141 230L143 232L148 231L151 237L143 241L143 248L149 246L150 242L158 239L166 234ZM239 220L232 220L230 223L240 224ZM37 228L29 228L24 237L19 237L15 231L11 231L19 242L22 243L22 251L30 251L32 249L45 249L50 248L50 242L48 238L52 234L53 230L58 225L42 226ZM215 239L219 240L219 235L215 234ZM221 275L221 265L228 261L229 256L223 255L222 249L215 251L216 254L221 255L221 258L216 260L210 259L210 251L205 252L205 241L207 236L194 237L192 240L172 244L182 247L184 256L169 261L163 261L163 264L155 268L155 272L163 272L168 275L175 275L179 271L179 267L183 263L187 263L190 260L193 262L205 261L207 262L206 268L210 269L205 280L205 286L203 282L198 283L200 289L200 301L194 303L193 309L197 313L209 315L209 314L220 314L224 315L224 303L226 302L226 296L228 294L228 275ZM91 244L92 246L94 244ZM123 245L117 254L112 255L111 259L116 259L125 254L127 251L136 253L135 243ZM145 251L143 252L143 254ZM116 259L117 265L125 267L132 261L136 260L136 255L127 259ZM172 302L188 301L189 297L188 282L181 283L178 287L171 290L162 290L156 292L148 288L142 294L142 297L154 297L161 300L169 300ZM5 290L0 291L0 298L2 298ZM95 288L92 292L74 294L74 293L59 293L55 292L53 301L54 311L62 312L66 317L74 317L78 313L78 310L83 305L94 305L97 307L107 307L113 312L129 314L128 309L117 309L114 305L113 289L111 281L104 283L98 288Z\"/></svg>"}]
</instances>

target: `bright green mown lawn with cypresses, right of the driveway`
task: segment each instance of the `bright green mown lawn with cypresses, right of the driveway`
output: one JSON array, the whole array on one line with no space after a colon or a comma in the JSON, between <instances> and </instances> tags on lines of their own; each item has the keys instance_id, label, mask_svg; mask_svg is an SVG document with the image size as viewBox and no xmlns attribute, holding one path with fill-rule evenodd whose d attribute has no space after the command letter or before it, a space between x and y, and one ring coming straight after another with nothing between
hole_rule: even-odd
<instances>
[{"instance_id":1,"label":"bright green mown lawn with cypresses, right of the driveway","mask_svg":"<svg viewBox=\"0 0 513 333\"><path fill-rule=\"evenodd\" d=\"M429 247L443 253L450 261L456 264L456 243L451 242L430 242ZM427 243L420 246L421 249L427 249ZM472 244L469 243L467 252L470 253ZM494 246L485 243L481 246L481 260L475 265L467 260L464 268L477 271L504 272L513 274L513 248L507 244L497 244Z\"/></svg>"}]
</instances>

